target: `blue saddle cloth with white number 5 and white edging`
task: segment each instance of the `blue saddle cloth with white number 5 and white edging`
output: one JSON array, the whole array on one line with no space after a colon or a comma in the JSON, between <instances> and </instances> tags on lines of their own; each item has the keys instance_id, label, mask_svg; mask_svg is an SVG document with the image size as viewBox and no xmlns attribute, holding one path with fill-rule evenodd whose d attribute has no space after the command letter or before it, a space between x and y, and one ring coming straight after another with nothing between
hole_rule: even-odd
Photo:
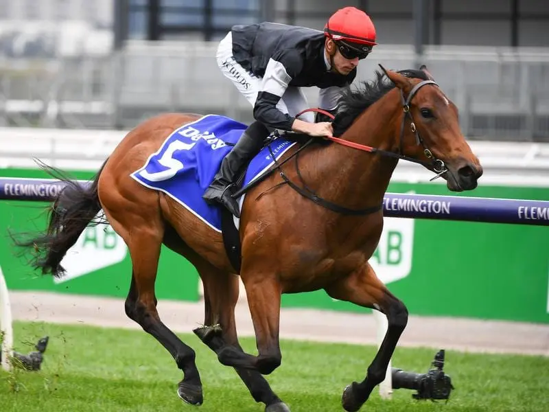
<instances>
[{"instance_id":1,"label":"blue saddle cloth with white number 5 and white edging","mask_svg":"<svg viewBox=\"0 0 549 412\"><path fill-rule=\"evenodd\" d=\"M218 172L223 158L248 126L230 117L206 115L174 130L162 146L131 174L142 185L164 192L189 209L216 231L221 231L221 206L204 199L207 187ZM294 142L279 137L270 143L279 159ZM255 156L244 177L244 185L261 176L274 160L268 146Z\"/></svg>"}]
</instances>

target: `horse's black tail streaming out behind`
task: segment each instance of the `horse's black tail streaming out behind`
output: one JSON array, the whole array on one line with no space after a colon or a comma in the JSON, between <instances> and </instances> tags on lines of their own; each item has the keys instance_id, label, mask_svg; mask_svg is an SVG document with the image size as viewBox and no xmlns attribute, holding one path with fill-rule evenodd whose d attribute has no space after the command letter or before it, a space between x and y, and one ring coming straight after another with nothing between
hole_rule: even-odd
<instances>
[{"instance_id":1,"label":"horse's black tail streaming out behind","mask_svg":"<svg viewBox=\"0 0 549 412\"><path fill-rule=\"evenodd\" d=\"M23 253L31 249L30 263L43 274L51 273L54 277L63 275L65 269L60 263L65 253L101 210L97 196L97 181L105 163L91 185L82 185L69 179L60 170L41 165L48 174L64 182L66 186L49 206L49 224L45 233L30 239L16 240L14 236L12 239L17 246L25 248Z\"/></svg>"}]
</instances>

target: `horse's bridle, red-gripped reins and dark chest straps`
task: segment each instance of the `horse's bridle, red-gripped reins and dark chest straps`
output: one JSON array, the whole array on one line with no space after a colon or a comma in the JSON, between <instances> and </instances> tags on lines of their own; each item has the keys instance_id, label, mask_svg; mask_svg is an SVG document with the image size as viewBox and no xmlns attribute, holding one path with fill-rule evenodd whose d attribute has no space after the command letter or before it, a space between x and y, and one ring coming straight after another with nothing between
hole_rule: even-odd
<instances>
[{"instance_id":1,"label":"horse's bridle, red-gripped reins and dark chest straps","mask_svg":"<svg viewBox=\"0 0 549 412\"><path fill-rule=\"evenodd\" d=\"M431 181L438 178L438 177L440 177L440 176L442 176L443 174L445 174L448 171L445 164L444 164L444 162L441 159L436 159L434 157L434 155L432 154L432 152L427 148L427 146L425 146L425 143L423 142L423 139L421 139L421 136L419 135L419 132L417 131L417 127L414 123L412 113L410 113L410 102L411 102L412 98L417 93L417 91L419 91L419 89L421 89L421 87L423 87L427 84L434 84L437 87L439 86L439 84L436 84L436 82L434 82L433 80L423 80L423 81L419 82L418 84L416 84L412 88L412 90L410 91L410 94L408 95L408 98L406 98L406 99L404 98L404 92L402 91L402 89L400 90L400 98L401 98L401 103L402 103L402 109L404 111L404 116L402 117L402 123L401 123L401 127L400 127L399 151L398 152L390 152L388 150L382 150L382 149L374 148L372 146L366 146L364 144L355 143L353 141L340 139L339 137L334 137L334 136L326 136L325 139L334 141L337 144L340 144L342 146L348 146L350 148L362 150L364 152L377 153L379 155L386 156L386 157L393 157L393 158L396 158L396 159L402 159L402 160L405 160L405 161L410 161L412 163L418 163L420 165L425 166L425 168L432 168L432 170L434 170L434 172L436 172L437 174L436 174L436 176L434 176L431 179ZM327 117L329 117L332 120L335 119L334 115L332 115L328 111L325 111L321 108L307 108L307 109L297 113L296 117L299 117L300 115L303 115L303 113L307 113L307 112L310 112L310 111L326 115ZM416 137L417 144L418 145L421 144L421 146L423 146L423 149L424 149L423 152L425 153L425 157L427 157L428 159L431 159L431 161L422 161L422 160L419 160L419 159L415 159L414 157L409 157L409 156L406 156L406 155L402 154L402 151L403 151L402 150L402 145L403 145L403 139L404 139L404 126L406 124L406 119L408 119L408 117L410 118L410 128L412 130L412 133L414 133L414 135ZM309 200L313 201L314 203L316 203L316 204L318 204L322 207L325 207L326 209L330 209L331 211L336 211L337 213L340 213L340 214L347 214L347 215L353 215L353 216L366 215L366 214L371 214L371 213L374 213L376 211L379 211L382 208L382 205L377 205L377 206L374 206L374 207L368 207L366 209L349 209L347 207L337 205L336 203L331 203L330 201L327 201L324 198L320 198L315 192L313 192L312 190L310 190L307 187L307 185L305 184L305 181L303 181L303 177L301 176L301 172L299 171L298 157L299 157L299 152L301 152L301 150L303 150L305 147L309 146L309 144L311 144L312 141L314 141L314 140L316 140L316 137L312 137L311 139L309 139L305 144L303 144L303 146L301 146L301 148L296 150L296 152L294 152L292 155L290 155L290 157L288 157L287 159L285 159L281 163L277 162L277 160L274 159L274 153L272 152L272 149L270 148L270 146L268 146L269 151L270 151L270 155L271 155L272 159L274 159L275 167L268 170L266 173L264 173L263 176L260 176L259 179L256 179L255 181L248 183L248 185L246 185L245 187L242 187L240 190L237 190L237 192L235 192L232 195L233 198L238 198L239 196L244 194L244 192L247 192L251 187L257 185L259 182L266 179L266 177L268 175L270 175L270 173L273 172L275 169L278 169L279 174L280 174L281 178L284 181L283 183L281 183L279 185L283 185L284 183L288 184L290 187L292 187L293 190L295 190L296 192L301 194L301 196L304 196L304 197L308 198ZM292 159L292 157L295 157L297 175L299 176L299 179L301 180L301 183L303 184L303 187L299 187L298 185L296 185L295 183L290 181L290 179L288 179L288 176L286 176L285 173L281 170L281 165L283 165L284 163L286 163L287 161ZM278 187L279 185L276 185L275 187Z\"/></svg>"}]
</instances>

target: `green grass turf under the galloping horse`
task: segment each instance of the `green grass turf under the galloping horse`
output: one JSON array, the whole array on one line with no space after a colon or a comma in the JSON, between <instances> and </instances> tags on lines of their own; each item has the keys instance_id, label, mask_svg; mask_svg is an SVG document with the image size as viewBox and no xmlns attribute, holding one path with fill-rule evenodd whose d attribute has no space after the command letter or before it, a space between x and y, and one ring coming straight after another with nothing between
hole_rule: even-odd
<instances>
[{"instance_id":1,"label":"green grass turf under the galloping horse","mask_svg":"<svg viewBox=\"0 0 549 412\"><path fill-rule=\"evenodd\" d=\"M205 402L191 407L176 395L182 378L170 354L141 330L15 322L16 350L34 350L49 335L42 370L0 370L0 411L261 412L232 368L193 334L178 334L196 350ZM510 331L509 333L513 333ZM241 339L256 353L253 339ZM31 344L32 343L32 344ZM281 341L281 367L267 376L292 412L343 411L342 389L362 380L376 348ZM397 347L393 367L424 373L435 350ZM377 388L361 411L549 411L549 358L446 351L445 371L456 388L447 402L417 401L398 389L392 400Z\"/></svg>"}]
</instances>

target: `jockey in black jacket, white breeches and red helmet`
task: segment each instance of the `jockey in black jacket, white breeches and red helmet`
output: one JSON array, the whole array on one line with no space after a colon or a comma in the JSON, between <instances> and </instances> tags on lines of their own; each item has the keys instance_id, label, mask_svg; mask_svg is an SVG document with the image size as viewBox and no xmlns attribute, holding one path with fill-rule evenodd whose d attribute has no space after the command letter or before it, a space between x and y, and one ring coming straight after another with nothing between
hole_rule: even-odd
<instances>
[{"instance_id":1,"label":"jockey in black jacket, white breeches and red helmet","mask_svg":"<svg viewBox=\"0 0 549 412\"><path fill-rule=\"evenodd\" d=\"M233 180L274 129L331 136L331 123L314 123L313 113L305 121L294 117L309 107L300 87L318 87L318 106L334 111L340 89L353 82L359 60L376 44L370 17L354 7L332 14L324 32L269 22L233 26L220 41L218 65L253 106L255 122L223 159L202 196L207 203L222 203L240 218Z\"/></svg>"}]
</instances>

